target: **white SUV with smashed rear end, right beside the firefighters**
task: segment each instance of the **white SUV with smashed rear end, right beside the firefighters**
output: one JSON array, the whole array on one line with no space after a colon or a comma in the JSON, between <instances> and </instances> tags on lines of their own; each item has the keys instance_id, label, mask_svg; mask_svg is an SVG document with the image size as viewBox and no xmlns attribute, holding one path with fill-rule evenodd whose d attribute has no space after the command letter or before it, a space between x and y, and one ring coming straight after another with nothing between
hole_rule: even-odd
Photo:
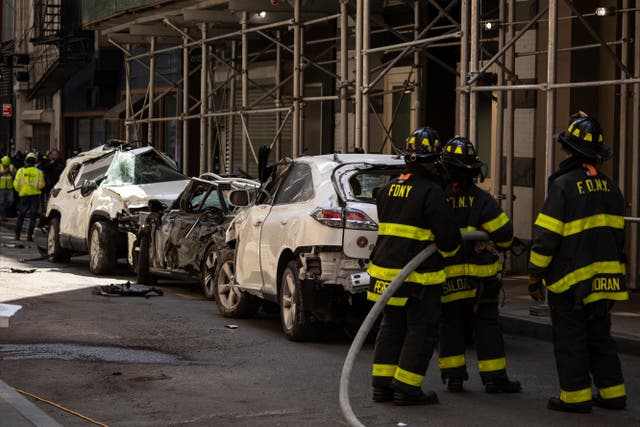
<instances>
[{"instance_id":1,"label":"white SUV with smashed rear end, right beside the firefighters","mask_svg":"<svg viewBox=\"0 0 640 427\"><path fill-rule=\"evenodd\" d=\"M272 166L255 200L227 230L218 257L216 305L223 316L253 315L261 300L279 306L294 341L316 337L326 322L355 324L366 301L369 256L377 237L375 196L404 168L401 157L333 154Z\"/></svg>"}]
</instances>

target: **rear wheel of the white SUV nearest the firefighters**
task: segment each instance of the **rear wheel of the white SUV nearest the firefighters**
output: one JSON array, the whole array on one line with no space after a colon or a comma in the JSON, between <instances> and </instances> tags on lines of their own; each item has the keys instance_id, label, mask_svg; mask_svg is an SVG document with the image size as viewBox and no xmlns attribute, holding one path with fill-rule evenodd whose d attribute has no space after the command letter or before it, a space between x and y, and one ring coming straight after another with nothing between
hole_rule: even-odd
<instances>
[{"instance_id":1,"label":"rear wheel of the white SUV nearest the firefighters","mask_svg":"<svg viewBox=\"0 0 640 427\"><path fill-rule=\"evenodd\" d=\"M310 313L303 311L302 287L296 261L291 261L282 273L280 281L280 321L282 330L291 341L315 339L318 322Z\"/></svg>"}]
</instances>

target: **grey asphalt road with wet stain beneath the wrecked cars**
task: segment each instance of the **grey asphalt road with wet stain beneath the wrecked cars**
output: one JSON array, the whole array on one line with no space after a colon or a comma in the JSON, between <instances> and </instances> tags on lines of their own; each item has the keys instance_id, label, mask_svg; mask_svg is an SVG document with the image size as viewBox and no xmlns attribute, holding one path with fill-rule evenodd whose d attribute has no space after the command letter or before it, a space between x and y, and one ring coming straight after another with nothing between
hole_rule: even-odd
<instances>
[{"instance_id":1,"label":"grey asphalt road with wet stain beneath the wrecked cars","mask_svg":"<svg viewBox=\"0 0 640 427\"><path fill-rule=\"evenodd\" d=\"M38 256L35 244L9 247L15 242L7 230L0 229L0 302L23 308L0 329L5 383L109 426L346 425L338 383L350 341L340 331L318 343L292 343L277 315L222 318L190 284L160 282L164 295L148 299L94 295L95 286L133 276L124 265L112 277L93 276L86 257L20 263ZM44 244L42 236L36 240ZM545 409L558 393L551 345L518 336L507 336L506 344L522 393L485 394L470 349L467 392L445 391L434 359L423 388L437 391L440 404L409 408L371 401L367 345L351 379L354 411L367 426L640 425L640 358L622 356L628 410L563 414ZM38 406L65 426L92 425Z\"/></svg>"}]
</instances>

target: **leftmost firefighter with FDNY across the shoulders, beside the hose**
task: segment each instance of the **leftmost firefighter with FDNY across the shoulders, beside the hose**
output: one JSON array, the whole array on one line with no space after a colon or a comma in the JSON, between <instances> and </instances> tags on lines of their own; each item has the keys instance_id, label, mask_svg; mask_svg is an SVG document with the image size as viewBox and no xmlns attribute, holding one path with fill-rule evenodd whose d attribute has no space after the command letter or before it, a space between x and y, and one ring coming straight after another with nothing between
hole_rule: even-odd
<instances>
[{"instance_id":1,"label":"leftmost firefighter with FDNY across the shoulders, beside the hose","mask_svg":"<svg viewBox=\"0 0 640 427\"><path fill-rule=\"evenodd\" d=\"M438 251L411 273L383 310L373 356L373 400L396 405L438 402L421 385L438 338L443 258L460 248L460 231L451 221L437 160L442 151L435 130L415 130L403 152L407 168L376 197L378 239L367 272L367 297L376 301L400 270L436 243Z\"/></svg>"}]
</instances>

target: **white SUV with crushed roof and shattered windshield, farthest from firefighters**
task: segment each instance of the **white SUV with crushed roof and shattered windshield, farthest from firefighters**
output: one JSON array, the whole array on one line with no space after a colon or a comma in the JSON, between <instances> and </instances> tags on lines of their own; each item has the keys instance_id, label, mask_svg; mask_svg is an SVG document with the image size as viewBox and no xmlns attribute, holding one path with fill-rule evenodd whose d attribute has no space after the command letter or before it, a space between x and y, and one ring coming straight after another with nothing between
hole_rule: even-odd
<instances>
[{"instance_id":1,"label":"white SUV with crushed roof and shattered windshield, farthest from firefighters","mask_svg":"<svg viewBox=\"0 0 640 427\"><path fill-rule=\"evenodd\" d=\"M47 203L49 260L88 252L92 273L113 272L118 258L132 259L136 212L150 199L171 204L188 182L151 146L105 144L69 159Z\"/></svg>"}]
</instances>

